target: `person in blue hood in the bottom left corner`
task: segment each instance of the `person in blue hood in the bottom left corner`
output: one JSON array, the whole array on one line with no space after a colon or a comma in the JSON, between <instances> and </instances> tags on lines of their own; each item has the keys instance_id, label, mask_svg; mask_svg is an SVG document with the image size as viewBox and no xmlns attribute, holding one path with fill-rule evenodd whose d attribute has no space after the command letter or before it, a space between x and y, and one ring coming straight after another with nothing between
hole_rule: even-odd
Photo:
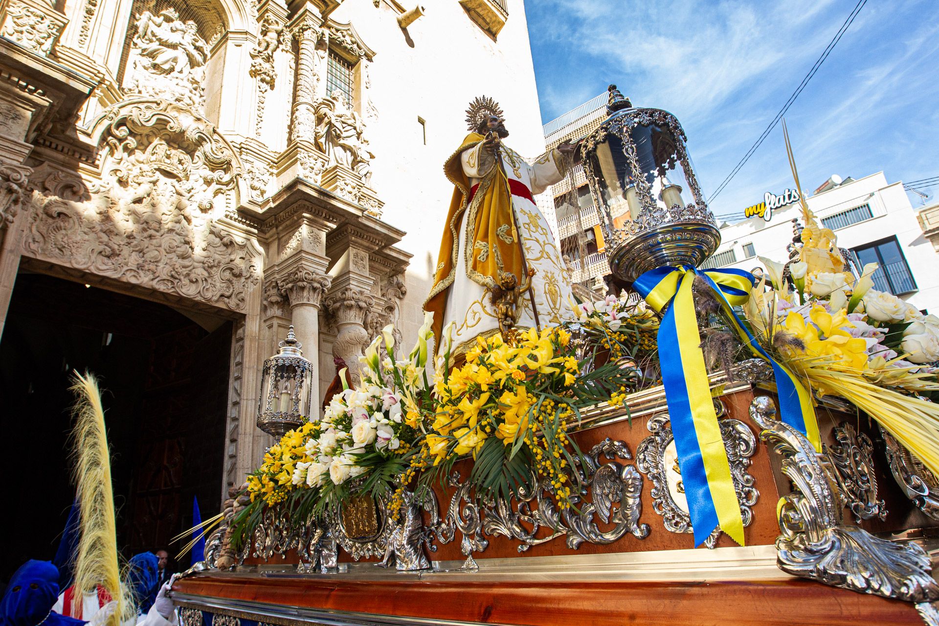
<instances>
[{"instance_id":1,"label":"person in blue hood in the bottom left corner","mask_svg":"<svg viewBox=\"0 0 939 626\"><path fill-rule=\"evenodd\" d=\"M81 626L87 622L53 611L59 571L49 561L26 561L9 581L0 603L0 626Z\"/></svg>"}]
</instances>

